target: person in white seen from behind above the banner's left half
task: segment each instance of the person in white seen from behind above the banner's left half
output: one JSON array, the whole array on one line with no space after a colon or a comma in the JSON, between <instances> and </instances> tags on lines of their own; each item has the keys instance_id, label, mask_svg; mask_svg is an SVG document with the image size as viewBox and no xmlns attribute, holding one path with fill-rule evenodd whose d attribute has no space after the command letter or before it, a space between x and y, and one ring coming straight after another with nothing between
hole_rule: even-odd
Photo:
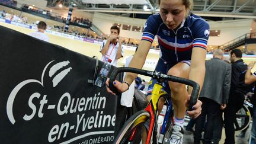
<instances>
[{"instance_id":1,"label":"person in white seen from behind above the banner's left half","mask_svg":"<svg viewBox=\"0 0 256 144\"><path fill-rule=\"evenodd\" d=\"M46 30L46 28L47 28L46 23L44 23L43 21L40 21L37 24L37 31L30 33L28 35L32 37L36 37L37 39L49 42L49 37L46 34L44 34L44 31Z\"/></svg>"}]
</instances>

